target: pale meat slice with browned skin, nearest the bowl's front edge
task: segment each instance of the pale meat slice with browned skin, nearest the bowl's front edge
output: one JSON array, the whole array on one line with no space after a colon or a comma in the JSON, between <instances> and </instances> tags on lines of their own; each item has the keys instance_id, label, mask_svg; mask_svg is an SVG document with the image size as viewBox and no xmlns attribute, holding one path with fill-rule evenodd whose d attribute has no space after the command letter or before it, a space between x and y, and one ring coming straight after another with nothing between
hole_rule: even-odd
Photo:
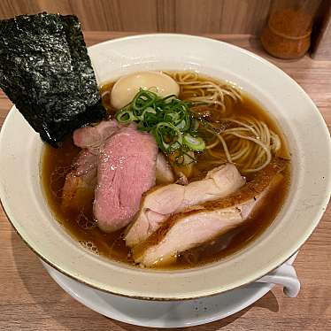
<instances>
[{"instance_id":1,"label":"pale meat slice with browned skin, nearest the bowl's front edge","mask_svg":"<svg viewBox=\"0 0 331 331\"><path fill-rule=\"evenodd\" d=\"M277 189L285 165L286 161L276 159L234 194L197 205L196 210L174 214L146 242L134 247L135 262L143 266L167 265L182 251L239 226L258 212L265 198Z\"/></svg>"}]
</instances>

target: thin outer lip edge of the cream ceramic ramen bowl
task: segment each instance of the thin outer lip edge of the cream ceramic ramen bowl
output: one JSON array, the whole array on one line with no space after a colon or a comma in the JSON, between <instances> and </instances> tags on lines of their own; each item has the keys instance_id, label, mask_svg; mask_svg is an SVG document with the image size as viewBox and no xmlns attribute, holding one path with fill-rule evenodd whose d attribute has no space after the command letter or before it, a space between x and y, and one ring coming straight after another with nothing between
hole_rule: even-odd
<instances>
[{"instance_id":1,"label":"thin outer lip edge of the cream ceramic ramen bowl","mask_svg":"<svg viewBox=\"0 0 331 331\"><path fill-rule=\"evenodd\" d=\"M202 40L202 41L205 42L207 40L208 42L219 43L219 41L214 40L214 39L211 39L211 38L201 37L201 36L194 36L194 35L148 34L148 35L132 35L132 36L127 36L127 37L122 37L122 38L116 38L116 39L112 39L112 40L109 40L109 41L100 42L100 43L97 43L97 44L95 44L93 46L90 46L89 47L89 50L96 50L101 45L104 45L104 44L107 44L107 43L126 42L126 41L131 41L131 40L141 40L141 39L145 39L145 38L152 38L153 39L153 38L159 38L159 37L170 37L170 38L173 38L174 37L176 39L177 38L185 38L185 39L190 38L190 39L193 39L193 40L196 40L196 41ZM250 52L249 50L244 50L244 49L242 49L240 47L237 47L237 46L235 46L233 44L229 44L227 42L220 42L220 43L226 44L226 46L224 46L224 47L227 47L227 48L230 48L230 49L234 49L236 51L240 51L241 53L244 53L246 55L249 55L252 58L258 59L259 62L264 63L265 65L268 65L269 67L273 68L273 70L276 70L278 72L281 72L282 75L285 75L287 77L287 79L292 82L292 84L293 83L295 84L296 89L298 89L300 91L300 93L302 95L304 95L305 101L309 103L311 109L313 109L313 111L315 112L316 119L319 118L319 124L320 124L320 127L319 128L323 128L323 133L322 134L323 135L328 135L327 126L326 126L326 124L324 122L324 119L323 119L322 115L320 114L318 108L312 102L312 99L304 92L304 89L302 89L296 83L296 81L294 81L292 78L290 78L288 74L284 73L276 65L273 65L272 63L268 62L264 58L260 58L258 55ZM15 107L13 106L12 108L15 108ZM4 120L4 125L3 125L2 130L1 130L1 133L0 133L0 146L2 144L2 140L3 140L3 136L4 136L3 135L3 132L6 131L6 127L8 126L8 123L10 122L10 119L13 116L13 114L14 114L14 112L10 112L7 115L6 119ZM330 157L331 156L331 142L330 142L330 140L328 141L327 147L328 147L327 156ZM260 270L260 272L258 273L258 276L257 277L250 277L250 279L248 281L245 281L244 283L242 283L239 286L234 286L232 288L225 289L225 290L224 289L220 289L219 291L214 291L212 294L207 294L205 296L218 295L221 292L226 292L227 290L235 289L237 287L242 287L242 286L246 285L247 283L250 283L251 281L256 281L261 276L265 275L266 273L269 273L270 271L272 271L276 267L281 266L281 264L283 262L285 262L291 255L295 254L296 251L300 249L300 247L304 244L304 242L312 234L312 231L315 229L315 227L317 227L321 216L325 212L325 209L327 207L328 200L330 198L330 191L331 191L331 177L329 175L327 176L327 190L328 190L328 194L326 194L324 196L324 198L321 200L321 202L319 204L322 208L319 209L319 212L316 212L315 217L314 217L314 219L312 221L311 226L306 229L306 231L305 231L305 233L303 235L301 235L301 240L300 241L297 241L296 244L293 244L292 245L292 249L291 249L290 252L288 252L288 255L286 257L278 258L277 263L273 263L272 266L268 265L268 267L267 267L268 270ZM22 240L27 243L27 246L31 250L33 250L37 256L39 256L40 258L42 258L43 261L45 261L50 266L52 266L55 269L57 269L59 272L64 273L65 275L67 275L67 276L75 279L76 281L83 282L83 283L85 283L85 284L87 284L87 285L89 285L89 286L91 286L91 287L93 287L95 289L99 289L99 290L102 290L102 291L105 291L105 292L109 292L109 293L112 293L112 294L115 294L115 295L127 296L127 297L135 297L135 298L139 298L139 299L148 299L148 300L150 300L150 299L153 299L153 300L179 300L179 299L192 299L192 298L196 298L196 297L204 297L204 296L201 296L201 295L190 296L190 297L181 297L181 298L179 298L179 297L164 298L164 297L150 297L150 296L129 296L127 294L121 294L121 293L118 293L118 292L112 292L112 290L110 290L110 289L100 288L100 287L96 286L95 284L90 283L89 281L84 281L84 277L83 276L81 278L80 277L76 277L74 274L65 271L63 268L61 268L57 264L55 264L52 261L50 261L48 258L45 258L44 256L42 256L42 253L35 249L34 244L31 243L31 242L28 242L27 238L25 238L24 236L22 236L19 233L19 230L14 226L14 222L12 221L12 219L10 217L10 214L12 212L11 212L11 209L10 209L9 205L6 204L6 201L4 199L4 188L3 188L2 185L0 185L0 201L1 201L1 204L3 205L3 209L4 209L4 212L5 212L6 216L7 216L7 219L10 221L10 223L12 224L12 227L19 234L19 236L22 238Z\"/></svg>"}]
</instances>

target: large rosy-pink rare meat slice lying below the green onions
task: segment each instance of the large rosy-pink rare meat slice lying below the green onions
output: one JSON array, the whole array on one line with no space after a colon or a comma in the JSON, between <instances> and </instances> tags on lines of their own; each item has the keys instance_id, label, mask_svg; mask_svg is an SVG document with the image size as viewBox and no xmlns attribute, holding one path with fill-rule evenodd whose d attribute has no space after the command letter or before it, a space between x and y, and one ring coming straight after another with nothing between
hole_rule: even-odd
<instances>
[{"instance_id":1,"label":"large rosy-pink rare meat slice lying below the green onions","mask_svg":"<svg viewBox=\"0 0 331 331\"><path fill-rule=\"evenodd\" d=\"M155 185L158 146L135 125L122 127L99 151L93 205L98 227L126 227L139 210L142 194Z\"/></svg>"}]
</instances>

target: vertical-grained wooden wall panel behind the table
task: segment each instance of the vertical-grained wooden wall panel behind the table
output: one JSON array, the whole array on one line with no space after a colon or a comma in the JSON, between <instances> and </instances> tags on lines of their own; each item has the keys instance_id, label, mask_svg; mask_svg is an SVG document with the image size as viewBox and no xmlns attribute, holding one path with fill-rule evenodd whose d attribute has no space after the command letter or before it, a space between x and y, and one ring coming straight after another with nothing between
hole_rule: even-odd
<instances>
[{"instance_id":1,"label":"vertical-grained wooden wall panel behind the table","mask_svg":"<svg viewBox=\"0 0 331 331\"><path fill-rule=\"evenodd\" d=\"M77 15L85 31L259 36L280 3L313 7L312 49L319 43L318 55L330 57L331 0L0 0L0 19L59 12Z\"/></svg>"}]
</instances>

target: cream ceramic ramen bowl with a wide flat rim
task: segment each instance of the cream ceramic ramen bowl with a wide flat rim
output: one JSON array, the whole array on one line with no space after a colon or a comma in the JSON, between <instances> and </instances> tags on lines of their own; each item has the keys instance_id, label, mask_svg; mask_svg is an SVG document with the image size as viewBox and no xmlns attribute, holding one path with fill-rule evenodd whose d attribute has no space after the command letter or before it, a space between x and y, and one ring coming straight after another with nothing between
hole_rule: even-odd
<instances>
[{"instance_id":1,"label":"cream ceramic ramen bowl with a wide flat rim","mask_svg":"<svg viewBox=\"0 0 331 331\"><path fill-rule=\"evenodd\" d=\"M295 81L266 60L224 42L188 35L138 35L89 48L99 82L141 70L196 70L234 81L275 118L289 142L292 181L273 224L247 247L210 266L141 270L98 257L53 218L42 195L43 144L15 109L0 137L0 196L13 227L58 271L96 289L152 299L210 296L255 281L280 266L312 234L330 196L327 127Z\"/></svg>"}]
</instances>

